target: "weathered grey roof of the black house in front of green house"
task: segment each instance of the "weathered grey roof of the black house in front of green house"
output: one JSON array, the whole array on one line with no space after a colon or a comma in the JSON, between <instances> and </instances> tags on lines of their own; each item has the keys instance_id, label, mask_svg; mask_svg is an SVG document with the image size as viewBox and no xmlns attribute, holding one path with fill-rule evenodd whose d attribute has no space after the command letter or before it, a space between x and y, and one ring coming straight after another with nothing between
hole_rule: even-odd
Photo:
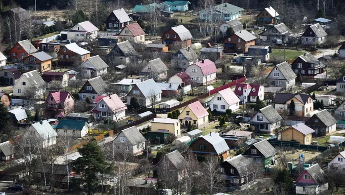
<instances>
[{"instance_id":1,"label":"weathered grey roof of the black house in front of green house","mask_svg":"<svg viewBox=\"0 0 345 195\"><path fill-rule=\"evenodd\" d=\"M254 171L253 166L250 166L250 161L242 156L242 154L228 159L225 162L235 167L240 177L246 176Z\"/></svg>"}]
</instances>

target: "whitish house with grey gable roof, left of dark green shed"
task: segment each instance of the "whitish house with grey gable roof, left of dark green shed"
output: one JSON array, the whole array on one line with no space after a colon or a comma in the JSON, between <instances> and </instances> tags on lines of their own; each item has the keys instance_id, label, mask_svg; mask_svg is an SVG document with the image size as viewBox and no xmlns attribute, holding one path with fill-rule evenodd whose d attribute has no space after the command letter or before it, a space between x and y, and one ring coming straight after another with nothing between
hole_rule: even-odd
<instances>
[{"instance_id":1,"label":"whitish house with grey gable roof, left of dark green shed","mask_svg":"<svg viewBox=\"0 0 345 195\"><path fill-rule=\"evenodd\" d=\"M122 130L114 139L115 152L127 151L129 154L140 155L146 148L146 139L139 130L133 126Z\"/></svg>"}]
</instances>

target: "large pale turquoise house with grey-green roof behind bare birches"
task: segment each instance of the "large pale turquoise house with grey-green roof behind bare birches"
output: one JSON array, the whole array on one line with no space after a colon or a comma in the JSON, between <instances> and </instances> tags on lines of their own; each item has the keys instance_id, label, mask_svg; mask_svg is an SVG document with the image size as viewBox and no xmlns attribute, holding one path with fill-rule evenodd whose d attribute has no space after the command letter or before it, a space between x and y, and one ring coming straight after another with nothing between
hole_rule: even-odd
<instances>
[{"instance_id":1,"label":"large pale turquoise house with grey-green roof behind bare birches","mask_svg":"<svg viewBox=\"0 0 345 195\"><path fill-rule=\"evenodd\" d=\"M230 3L222 3L200 11L199 17L200 20L228 21L241 18L243 10L243 8L231 5Z\"/></svg>"}]
</instances>

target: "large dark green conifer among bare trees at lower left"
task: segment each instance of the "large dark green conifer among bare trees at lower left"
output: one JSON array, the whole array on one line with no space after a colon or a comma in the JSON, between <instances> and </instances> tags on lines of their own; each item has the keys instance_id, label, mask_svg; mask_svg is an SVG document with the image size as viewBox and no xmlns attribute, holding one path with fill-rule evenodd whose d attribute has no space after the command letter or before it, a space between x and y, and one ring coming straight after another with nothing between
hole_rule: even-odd
<instances>
[{"instance_id":1,"label":"large dark green conifer among bare trees at lower left","mask_svg":"<svg viewBox=\"0 0 345 195\"><path fill-rule=\"evenodd\" d=\"M77 174L82 174L82 184L87 194L97 192L99 184L98 174L106 173L110 165L104 159L104 154L95 141L91 141L82 148L78 148L81 155L74 163Z\"/></svg>"}]
</instances>

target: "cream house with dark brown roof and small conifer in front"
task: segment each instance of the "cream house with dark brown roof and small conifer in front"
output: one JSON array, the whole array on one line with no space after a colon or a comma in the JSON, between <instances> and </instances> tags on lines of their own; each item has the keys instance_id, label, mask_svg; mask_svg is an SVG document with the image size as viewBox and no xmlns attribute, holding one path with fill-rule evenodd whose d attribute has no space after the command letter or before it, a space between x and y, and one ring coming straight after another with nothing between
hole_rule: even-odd
<instances>
[{"instance_id":1,"label":"cream house with dark brown roof and small conifer in front","mask_svg":"<svg viewBox=\"0 0 345 195\"><path fill-rule=\"evenodd\" d=\"M311 95L306 93L301 94L287 94L277 93L272 104L277 112L282 115L290 114L290 104L294 101L295 108L293 115L295 116L306 116L309 112L314 110L313 98Z\"/></svg>"}]
</instances>

